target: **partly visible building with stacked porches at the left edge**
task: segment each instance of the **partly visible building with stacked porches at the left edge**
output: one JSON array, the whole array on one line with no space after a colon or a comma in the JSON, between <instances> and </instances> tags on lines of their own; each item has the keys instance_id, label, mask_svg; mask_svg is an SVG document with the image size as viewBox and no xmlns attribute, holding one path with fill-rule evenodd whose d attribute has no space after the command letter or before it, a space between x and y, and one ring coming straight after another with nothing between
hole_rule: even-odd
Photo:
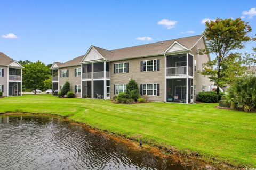
<instances>
[{"instance_id":1,"label":"partly visible building with stacked porches at the left edge","mask_svg":"<svg viewBox=\"0 0 256 170\"><path fill-rule=\"evenodd\" d=\"M0 52L0 91L3 96L22 95L22 66Z\"/></svg>"}]
</instances>

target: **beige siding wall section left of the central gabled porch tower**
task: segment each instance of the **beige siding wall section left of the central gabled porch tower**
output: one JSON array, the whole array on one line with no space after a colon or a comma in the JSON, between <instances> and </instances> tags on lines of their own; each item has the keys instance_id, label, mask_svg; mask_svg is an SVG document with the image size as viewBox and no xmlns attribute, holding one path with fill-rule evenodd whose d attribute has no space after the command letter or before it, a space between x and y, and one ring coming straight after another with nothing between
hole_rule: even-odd
<instances>
[{"instance_id":1,"label":"beige siding wall section left of the central gabled porch tower","mask_svg":"<svg viewBox=\"0 0 256 170\"><path fill-rule=\"evenodd\" d=\"M75 85L81 86L81 76L75 77L75 69L81 67L81 66L73 66L73 67L67 67L67 68L61 68L59 69L59 84L58 84L58 91L60 91L60 86L63 86L66 81L70 83L70 90L75 92ZM60 77L60 71L68 69L68 77ZM81 70L82 72L82 70ZM82 73L81 73L82 75ZM81 87L82 89L82 87ZM81 93L76 93L76 97L81 97Z\"/></svg>"}]
</instances>

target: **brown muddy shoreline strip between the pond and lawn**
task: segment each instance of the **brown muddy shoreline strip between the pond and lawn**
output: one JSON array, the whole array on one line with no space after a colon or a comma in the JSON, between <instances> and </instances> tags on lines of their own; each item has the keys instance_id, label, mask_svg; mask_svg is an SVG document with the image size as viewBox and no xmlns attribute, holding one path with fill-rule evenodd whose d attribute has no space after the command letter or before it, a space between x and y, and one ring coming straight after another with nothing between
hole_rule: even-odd
<instances>
[{"instance_id":1,"label":"brown muddy shoreline strip between the pond and lawn","mask_svg":"<svg viewBox=\"0 0 256 170\"><path fill-rule=\"evenodd\" d=\"M110 131L103 131L101 129L93 128L90 125L87 125L85 123L80 123L74 120L71 120L68 117L63 117L56 114L45 114L45 113L0 113L0 116L46 116L46 117L53 117L57 119L61 119L63 121L67 121L70 125L79 125L82 126L86 131L89 131L90 133L96 133L103 135L103 137L108 138L110 140L114 140L118 143L125 143L126 145L129 145L129 147L135 149L135 150L144 150L147 152L150 152L150 154L154 154L155 156L159 156L162 158L171 158L177 162L179 162L183 166L191 166L192 169L237 169L237 168L243 168L243 167L237 167L229 164L228 162L220 162L217 158L205 158L201 155L199 155L196 152L190 152L185 153L181 152L175 148L166 148L159 145L149 145L147 143L144 143L142 141L142 145L140 146L139 141L137 141L135 138L127 138L123 135L118 135Z\"/></svg>"}]
</instances>

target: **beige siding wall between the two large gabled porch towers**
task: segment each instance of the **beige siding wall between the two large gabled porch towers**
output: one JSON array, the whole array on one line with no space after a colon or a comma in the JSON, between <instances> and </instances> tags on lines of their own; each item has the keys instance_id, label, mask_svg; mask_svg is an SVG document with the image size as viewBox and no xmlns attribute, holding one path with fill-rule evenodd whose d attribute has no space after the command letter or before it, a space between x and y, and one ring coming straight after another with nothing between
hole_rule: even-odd
<instances>
[{"instance_id":1,"label":"beige siding wall between the two large gabled porch towers","mask_svg":"<svg viewBox=\"0 0 256 170\"><path fill-rule=\"evenodd\" d=\"M140 71L140 62L143 60L160 60L160 70L159 71ZM116 63L129 63L129 73L115 73L114 74L114 64ZM133 78L140 90L140 84L159 84L159 96L142 96L148 101L164 101L164 55L156 57L146 57L137 58L131 60L115 61L111 62L110 66L110 92L111 98L114 95L114 84L127 84L129 79Z\"/></svg>"}]
</instances>

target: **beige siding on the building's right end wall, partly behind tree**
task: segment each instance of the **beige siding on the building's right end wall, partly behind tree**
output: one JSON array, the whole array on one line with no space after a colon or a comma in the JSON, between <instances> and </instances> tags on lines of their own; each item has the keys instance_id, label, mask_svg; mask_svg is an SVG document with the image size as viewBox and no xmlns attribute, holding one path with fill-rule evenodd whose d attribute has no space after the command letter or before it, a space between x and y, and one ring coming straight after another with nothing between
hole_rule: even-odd
<instances>
[{"instance_id":1,"label":"beige siding on the building's right end wall, partly behind tree","mask_svg":"<svg viewBox=\"0 0 256 170\"><path fill-rule=\"evenodd\" d=\"M196 96L198 95L198 92L202 92L202 86L206 85L208 91L209 86L211 85L211 82L208 77L201 75L198 71L202 71L203 69L203 63L206 63L209 61L208 55L199 55L198 49L205 48L204 40L201 38L198 43L191 49L191 53L194 55L194 58L196 60L196 70L194 70L194 84L196 84ZM196 101L196 96L194 96L194 101Z\"/></svg>"}]
</instances>

